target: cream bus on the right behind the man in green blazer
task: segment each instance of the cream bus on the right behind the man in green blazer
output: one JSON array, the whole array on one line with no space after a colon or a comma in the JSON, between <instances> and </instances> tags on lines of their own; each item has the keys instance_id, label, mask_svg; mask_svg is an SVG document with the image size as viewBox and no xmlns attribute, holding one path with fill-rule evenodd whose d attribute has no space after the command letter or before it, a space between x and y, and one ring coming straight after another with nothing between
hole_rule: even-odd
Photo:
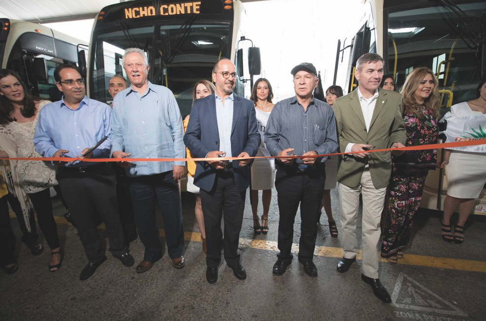
<instances>
[{"instance_id":1,"label":"cream bus on the right behind the man in green blazer","mask_svg":"<svg viewBox=\"0 0 486 321\"><path fill-rule=\"evenodd\" d=\"M398 89L414 67L434 71L439 80L441 116L452 105L476 98L475 90L486 74L486 1L359 2L354 25L338 40L335 85L345 93L357 88L356 61L372 52L385 59L384 73L394 77ZM430 171L421 207L442 210L446 191L444 171ZM486 186L473 211L486 215Z\"/></svg>"}]
</instances>

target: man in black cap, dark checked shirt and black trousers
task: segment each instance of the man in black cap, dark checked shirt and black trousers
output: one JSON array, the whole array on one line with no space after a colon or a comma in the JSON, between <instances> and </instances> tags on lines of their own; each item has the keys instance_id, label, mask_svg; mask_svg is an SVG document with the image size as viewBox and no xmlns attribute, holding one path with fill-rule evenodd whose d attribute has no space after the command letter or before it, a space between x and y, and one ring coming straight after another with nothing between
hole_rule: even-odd
<instances>
[{"instance_id":1,"label":"man in black cap, dark checked shirt and black trousers","mask_svg":"<svg viewBox=\"0 0 486 321\"><path fill-rule=\"evenodd\" d=\"M312 63L303 62L290 72L294 76L295 96L279 101L273 107L265 131L265 143L272 156L312 156L330 154L337 149L333 108L313 97L319 82ZM277 262L273 274L282 275L292 262L292 240L297 208L301 209L299 262L304 272L317 276L312 262L317 237L317 220L324 193L327 157L277 158L275 188L278 210Z\"/></svg>"}]
</instances>

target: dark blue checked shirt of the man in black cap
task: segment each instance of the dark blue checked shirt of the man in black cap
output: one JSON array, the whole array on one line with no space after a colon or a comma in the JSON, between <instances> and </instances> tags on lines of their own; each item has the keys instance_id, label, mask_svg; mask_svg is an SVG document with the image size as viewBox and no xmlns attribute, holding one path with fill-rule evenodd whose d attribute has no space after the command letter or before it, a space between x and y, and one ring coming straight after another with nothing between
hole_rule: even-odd
<instances>
[{"instance_id":1,"label":"dark blue checked shirt of the man in black cap","mask_svg":"<svg viewBox=\"0 0 486 321\"><path fill-rule=\"evenodd\" d=\"M306 110L296 96L277 102L267 123L265 144L272 156L286 148L294 148L292 153L299 156L311 150L319 155L335 152L337 132L333 108L314 97Z\"/></svg>"}]
</instances>

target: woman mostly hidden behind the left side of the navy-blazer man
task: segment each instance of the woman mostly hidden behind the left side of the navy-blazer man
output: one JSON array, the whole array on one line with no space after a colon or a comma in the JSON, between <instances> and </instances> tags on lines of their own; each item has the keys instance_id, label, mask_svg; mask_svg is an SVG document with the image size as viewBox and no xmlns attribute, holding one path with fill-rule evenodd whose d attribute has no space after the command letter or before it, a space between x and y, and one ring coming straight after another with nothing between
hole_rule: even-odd
<instances>
[{"instance_id":1,"label":"woman mostly hidden behind the left side of the navy-blazer man","mask_svg":"<svg viewBox=\"0 0 486 321\"><path fill-rule=\"evenodd\" d=\"M216 88L209 80L201 80L194 85L192 89L192 103L194 100L199 98L204 98L214 93ZM187 130L187 125L189 124L189 115L185 117L184 121L184 132ZM185 155L187 158L193 158L191 152L187 147L185 147ZM196 206L194 208L194 213L196 214L197 225L199 226L199 231L201 232L201 242L203 245L203 252L207 254L206 250L206 233L204 231L204 216L203 208L201 206L201 195L199 192L199 187L194 185L194 174L196 173L196 162L187 161L187 191L193 193L196 198Z\"/></svg>"}]
</instances>

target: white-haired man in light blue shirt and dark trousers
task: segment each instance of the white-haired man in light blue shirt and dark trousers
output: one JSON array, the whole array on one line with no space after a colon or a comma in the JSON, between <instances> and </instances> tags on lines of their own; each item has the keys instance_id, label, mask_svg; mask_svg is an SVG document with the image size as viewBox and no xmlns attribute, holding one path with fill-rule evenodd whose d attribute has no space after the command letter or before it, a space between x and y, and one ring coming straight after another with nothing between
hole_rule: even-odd
<instances>
[{"instance_id":1,"label":"white-haired man in light blue shirt and dark trousers","mask_svg":"<svg viewBox=\"0 0 486 321\"><path fill-rule=\"evenodd\" d=\"M176 98L168 88L148 81L148 59L141 49L129 48L123 55L123 68L131 86L115 96L112 114L114 158L184 158L184 129ZM165 238L172 265L185 265L182 250L182 223L179 179L184 161L120 162L129 176L135 221L145 246L144 260L137 273L148 271L162 258L162 243L155 217L158 202L164 219Z\"/></svg>"}]
</instances>

